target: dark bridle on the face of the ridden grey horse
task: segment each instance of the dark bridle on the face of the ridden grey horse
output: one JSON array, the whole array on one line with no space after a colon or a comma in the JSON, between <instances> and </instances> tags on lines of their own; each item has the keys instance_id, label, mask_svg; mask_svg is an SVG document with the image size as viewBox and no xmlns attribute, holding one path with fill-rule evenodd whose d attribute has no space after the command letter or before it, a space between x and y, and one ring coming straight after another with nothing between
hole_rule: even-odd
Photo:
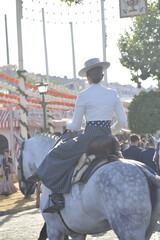
<instances>
[{"instance_id":1,"label":"dark bridle on the face of the ridden grey horse","mask_svg":"<svg viewBox=\"0 0 160 240\"><path fill-rule=\"evenodd\" d=\"M36 188L36 183L32 183L28 180L25 179L24 177L24 171L23 171L23 149L24 149L24 144L25 141L22 142L21 147L20 147L20 154L18 157L18 180L19 180L19 187L21 192L25 195L25 196L29 196L32 195L35 191ZM24 192L24 188L25 190L27 189L27 191Z\"/></svg>"}]
</instances>

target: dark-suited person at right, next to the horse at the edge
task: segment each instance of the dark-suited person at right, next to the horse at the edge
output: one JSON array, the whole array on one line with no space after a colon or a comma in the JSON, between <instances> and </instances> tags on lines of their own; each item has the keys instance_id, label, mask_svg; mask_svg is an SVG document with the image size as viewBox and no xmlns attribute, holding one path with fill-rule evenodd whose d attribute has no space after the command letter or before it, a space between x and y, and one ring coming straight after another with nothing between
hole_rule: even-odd
<instances>
[{"instance_id":1,"label":"dark-suited person at right, next to the horse at the edge","mask_svg":"<svg viewBox=\"0 0 160 240\"><path fill-rule=\"evenodd\" d=\"M157 172L157 166L153 161L153 156L155 154L155 145L152 139L148 141L148 145L149 147L140 153L140 161Z\"/></svg>"}]
</instances>

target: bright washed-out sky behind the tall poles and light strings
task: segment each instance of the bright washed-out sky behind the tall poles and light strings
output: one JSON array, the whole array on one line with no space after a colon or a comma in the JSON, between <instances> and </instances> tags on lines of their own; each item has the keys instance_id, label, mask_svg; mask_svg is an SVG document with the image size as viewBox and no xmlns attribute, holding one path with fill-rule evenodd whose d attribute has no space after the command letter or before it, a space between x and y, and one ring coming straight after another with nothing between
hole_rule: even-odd
<instances>
[{"instance_id":1,"label":"bright washed-out sky behind the tall poles and light strings","mask_svg":"<svg viewBox=\"0 0 160 240\"><path fill-rule=\"evenodd\" d=\"M0 66L6 65L4 14L7 14L10 63L18 65L16 33L16 0L0 0ZM54 4L53 4L54 3ZM23 0L23 60L28 72L45 74L42 13L44 8L46 20L46 40L48 51L49 74L73 78L71 28L73 24L76 74L84 62L92 57L102 59L102 30L100 0L84 0L81 6L71 8L59 0ZM130 72L119 62L120 52L117 40L124 30L129 29L131 18L120 18L119 1L105 1L108 82L132 84ZM77 74L78 76L78 74ZM135 86L135 85L134 85ZM150 82L145 82L150 86Z\"/></svg>"}]
</instances>

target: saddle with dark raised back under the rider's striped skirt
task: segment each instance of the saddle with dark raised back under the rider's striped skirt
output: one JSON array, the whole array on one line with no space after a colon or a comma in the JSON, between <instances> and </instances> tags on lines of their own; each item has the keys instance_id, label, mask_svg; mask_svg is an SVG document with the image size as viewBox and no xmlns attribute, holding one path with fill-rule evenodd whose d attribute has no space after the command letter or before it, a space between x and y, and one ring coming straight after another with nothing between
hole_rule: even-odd
<instances>
[{"instance_id":1,"label":"saddle with dark raised back under the rider's striped skirt","mask_svg":"<svg viewBox=\"0 0 160 240\"><path fill-rule=\"evenodd\" d=\"M118 161L119 142L114 136L97 137L80 157L72 176L72 184L86 183L102 165Z\"/></svg>"}]
</instances>

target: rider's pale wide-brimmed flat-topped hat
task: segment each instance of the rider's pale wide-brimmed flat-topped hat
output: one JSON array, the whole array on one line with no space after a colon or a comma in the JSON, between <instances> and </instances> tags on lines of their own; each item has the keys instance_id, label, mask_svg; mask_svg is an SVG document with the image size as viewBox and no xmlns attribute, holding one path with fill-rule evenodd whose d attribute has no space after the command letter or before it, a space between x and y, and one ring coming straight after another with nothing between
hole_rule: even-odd
<instances>
[{"instance_id":1,"label":"rider's pale wide-brimmed flat-topped hat","mask_svg":"<svg viewBox=\"0 0 160 240\"><path fill-rule=\"evenodd\" d=\"M110 63L109 62L100 62L99 58L91 58L88 61L84 63L84 68L82 68L78 75L80 77L86 77L86 73L88 70L95 68L95 67L102 67L103 72L109 68Z\"/></svg>"}]
</instances>

